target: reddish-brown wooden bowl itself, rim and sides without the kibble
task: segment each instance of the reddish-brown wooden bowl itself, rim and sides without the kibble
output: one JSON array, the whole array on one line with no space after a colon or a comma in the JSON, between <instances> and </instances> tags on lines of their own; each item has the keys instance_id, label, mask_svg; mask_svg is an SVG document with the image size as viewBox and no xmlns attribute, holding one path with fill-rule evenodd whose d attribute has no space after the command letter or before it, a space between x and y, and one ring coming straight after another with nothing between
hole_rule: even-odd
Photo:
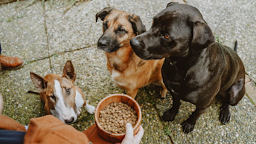
<instances>
[{"instance_id":1,"label":"reddish-brown wooden bowl itself, rim and sides without the kibble","mask_svg":"<svg viewBox=\"0 0 256 144\"><path fill-rule=\"evenodd\" d=\"M128 96L126 94L111 94L100 100L100 102L97 104L97 108L95 110L95 122L97 133L100 134L101 137L103 137L105 140L109 142L121 143L121 141L124 139L125 134L114 134L109 131L106 131L103 129L99 122L100 111L103 110L106 107L106 105L110 105L113 102L125 103L136 111L138 121L133 128L134 135L137 134L141 125L141 107L140 105L138 105L138 102L136 102L135 99L132 99L131 96Z\"/></svg>"}]
</instances>

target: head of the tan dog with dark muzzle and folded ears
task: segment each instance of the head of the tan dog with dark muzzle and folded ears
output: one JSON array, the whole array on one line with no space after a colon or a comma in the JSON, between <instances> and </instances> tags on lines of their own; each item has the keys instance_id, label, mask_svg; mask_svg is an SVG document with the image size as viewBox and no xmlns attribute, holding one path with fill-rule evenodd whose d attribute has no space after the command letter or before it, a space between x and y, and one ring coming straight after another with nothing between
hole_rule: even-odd
<instances>
[{"instance_id":1,"label":"head of the tan dog with dark muzzle and folded ears","mask_svg":"<svg viewBox=\"0 0 256 144\"><path fill-rule=\"evenodd\" d=\"M100 10L96 22L98 18L103 21L103 35L97 41L97 48L108 53L129 46L130 39L146 31L139 16L112 7Z\"/></svg>"}]
</instances>

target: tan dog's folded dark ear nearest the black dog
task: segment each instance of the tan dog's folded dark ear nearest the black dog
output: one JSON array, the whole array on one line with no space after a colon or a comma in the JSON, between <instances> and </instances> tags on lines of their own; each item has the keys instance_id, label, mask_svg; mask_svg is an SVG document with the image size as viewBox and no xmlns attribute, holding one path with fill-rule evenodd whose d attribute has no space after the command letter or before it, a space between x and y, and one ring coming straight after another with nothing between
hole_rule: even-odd
<instances>
[{"instance_id":1,"label":"tan dog's folded dark ear nearest the black dog","mask_svg":"<svg viewBox=\"0 0 256 144\"><path fill-rule=\"evenodd\" d=\"M141 18L135 14L128 16L129 22L132 24L133 33L139 35L146 31L145 25L142 23Z\"/></svg>"}]
</instances>

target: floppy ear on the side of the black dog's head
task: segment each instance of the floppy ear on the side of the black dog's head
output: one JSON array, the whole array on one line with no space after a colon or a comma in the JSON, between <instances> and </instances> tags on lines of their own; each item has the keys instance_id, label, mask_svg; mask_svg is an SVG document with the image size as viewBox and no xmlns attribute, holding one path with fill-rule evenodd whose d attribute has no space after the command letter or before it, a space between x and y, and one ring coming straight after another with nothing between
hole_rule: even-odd
<instances>
[{"instance_id":1,"label":"floppy ear on the side of the black dog's head","mask_svg":"<svg viewBox=\"0 0 256 144\"><path fill-rule=\"evenodd\" d=\"M191 53L196 53L215 42L211 28L205 22L193 22L193 38L191 41Z\"/></svg>"}]
</instances>

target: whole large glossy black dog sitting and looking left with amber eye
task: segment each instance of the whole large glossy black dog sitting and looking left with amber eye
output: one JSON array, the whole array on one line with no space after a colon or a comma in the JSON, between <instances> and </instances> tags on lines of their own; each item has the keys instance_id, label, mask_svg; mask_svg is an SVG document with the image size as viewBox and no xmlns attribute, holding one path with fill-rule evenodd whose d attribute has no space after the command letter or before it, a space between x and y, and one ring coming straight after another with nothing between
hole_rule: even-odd
<instances>
[{"instance_id":1,"label":"whole large glossy black dog sitting and looking left with amber eye","mask_svg":"<svg viewBox=\"0 0 256 144\"><path fill-rule=\"evenodd\" d=\"M180 99L193 103L196 111L182 123L188 133L215 97L222 102L220 121L230 120L229 105L237 105L245 94L243 62L234 50L214 42L196 7L169 3L154 17L150 30L130 43L142 59L166 58L161 74L173 96L173 107L164 112L163 120L174 120Z\"/></svg>"}]
</instances>

